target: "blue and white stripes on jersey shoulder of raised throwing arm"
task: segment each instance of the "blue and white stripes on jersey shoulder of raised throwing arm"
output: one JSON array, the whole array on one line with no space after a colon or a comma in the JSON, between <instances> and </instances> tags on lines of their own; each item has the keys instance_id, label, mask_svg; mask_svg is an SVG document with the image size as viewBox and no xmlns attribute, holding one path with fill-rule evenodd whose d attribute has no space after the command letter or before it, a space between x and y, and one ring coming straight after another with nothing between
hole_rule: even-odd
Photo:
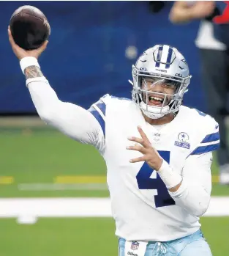
<instances>
[{"instance_id":1,"label":"blue and white stripes on jersey shoulder of raised throwing arm","mask_svg":"<svg viewBox=\"0 0 229 256\"><path fill-rule=\"evenodd\" d=\"M105 136L105 111L106 111L106 104L105 103L98 103L93 104L91 108L88 110L97 121L100 123L102 128L103 135Z\"/></svg>"}]
</instances>

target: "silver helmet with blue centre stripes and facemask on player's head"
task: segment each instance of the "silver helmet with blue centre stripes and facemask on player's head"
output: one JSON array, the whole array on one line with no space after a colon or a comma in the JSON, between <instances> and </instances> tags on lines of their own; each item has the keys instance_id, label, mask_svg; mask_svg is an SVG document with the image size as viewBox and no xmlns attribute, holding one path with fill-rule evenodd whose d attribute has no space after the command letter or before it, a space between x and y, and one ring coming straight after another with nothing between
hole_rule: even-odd
<instances>
[{"instance_id":1,"label":"silver helmet with blue centre stripes and facemask on player's head","mask_svg":"<svg viewBox=\"0 0 229 256\"><path fill-rule=\"evenodd\" d=\"M163 52L163 49L164 51L168 49L170 49L170 52L172 51L170 63L159 62L158 58L155 57L158 56L159 51L161 56L163 56L162 54L165 55L166 53ZM162 67L158 68L158 66ZM163 66L165 67L164 69ZM169 45L156 45L154 48L149 48L145 51L136 64L132 66L132 78L132 100L138 104L147 117L158 119L165 116L165 114L179 111L191 76L189 76L184 56L176 48L171 48ZM173 95L154 92L154 85L156 84L173 88ZM160 100L161 106L152 106L149 103L151 97L156 97Z\"/></svg>"}]
</instances>

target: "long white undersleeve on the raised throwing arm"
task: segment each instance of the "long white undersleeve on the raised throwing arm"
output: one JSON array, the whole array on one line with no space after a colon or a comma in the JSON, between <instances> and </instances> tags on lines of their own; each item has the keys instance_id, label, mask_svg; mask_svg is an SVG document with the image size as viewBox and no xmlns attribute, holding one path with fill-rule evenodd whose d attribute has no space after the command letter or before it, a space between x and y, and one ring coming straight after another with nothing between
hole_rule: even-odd
<instances>
[{"instance_id":1,"label":"long white undersleeve on the raised throwing arm","mask_svg":"<svg viewBox=\"0 0 229 256\"><path fill-rule=\"evenodd\" d=\"M99 122L90 111L59 100L48 81L29 83L29 92L41 119L78 142L105 149L105 136Z\"/></svg>"}]
</instances>

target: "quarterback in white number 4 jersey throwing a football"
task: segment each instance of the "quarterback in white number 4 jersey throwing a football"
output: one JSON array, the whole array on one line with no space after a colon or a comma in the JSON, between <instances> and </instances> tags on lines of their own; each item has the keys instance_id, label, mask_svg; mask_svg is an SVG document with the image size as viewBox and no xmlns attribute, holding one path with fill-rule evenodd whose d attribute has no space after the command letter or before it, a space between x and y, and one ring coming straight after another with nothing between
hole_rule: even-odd
<instances>
[{"instance_id":1,"label":"quarterback in white number 4 jersey throwing a football","mask_svg":"<svg viewBox=\"0 0 229 256\"><path fill-rule=\"evenodd\" d=\"M15 44L41 119L105 159L119 256L210 256L199 216L211 194L212 151L219 125L182 106L191 76L169 45L147 49L132 67L132 100L105 95L86 110L59 100L33 51Z\"/></svg>"}]
</instances>

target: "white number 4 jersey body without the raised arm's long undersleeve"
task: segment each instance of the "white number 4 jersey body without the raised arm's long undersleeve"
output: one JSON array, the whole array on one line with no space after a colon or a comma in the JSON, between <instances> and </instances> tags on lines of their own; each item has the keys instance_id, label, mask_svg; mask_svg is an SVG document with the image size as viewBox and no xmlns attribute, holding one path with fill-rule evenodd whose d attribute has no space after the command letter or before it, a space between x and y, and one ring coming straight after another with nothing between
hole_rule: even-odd
<instances>
[{"instance_id":1,"label":"white number 4 jersey body without the raised arm's long undersleeve","mask_svg":"<svg viewBox=\"0 0 229 256\"><path fill-rule=\"evenodd\" d=\"M129 163L129 159L141 156L141 153L126 149L132 143L127 138L140 137L137 130L140 125L151 145L180 175L183 175L190 156L209 154L203 183L206 183L206 191L211 193L211 151L219 147L217 122L196 109L181 106L172 122L157 129L144 120L132 100L110 95L94 103L89 111L102 128L98 139L108 169L116 235L130 241L170 241L197 231L200 228L198 216L176 205L157 172L144 162ZM192 178L192 167L187 167L187 172ZM201 179L201 173L198 175L200 177L192 178L194 183L195 179L196 182Z\"/></svg>"}]
</instances>

